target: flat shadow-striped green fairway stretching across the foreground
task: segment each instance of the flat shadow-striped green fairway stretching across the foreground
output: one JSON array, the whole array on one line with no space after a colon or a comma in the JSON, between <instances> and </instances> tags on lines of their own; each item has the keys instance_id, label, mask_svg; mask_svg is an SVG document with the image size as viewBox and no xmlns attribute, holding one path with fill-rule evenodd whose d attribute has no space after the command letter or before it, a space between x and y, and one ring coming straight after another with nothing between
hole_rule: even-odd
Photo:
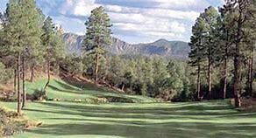
<instances>
[{"instance_id":1,"label":"flat shadow-striped green fairway stretching across the foreground","mask_svg":"<svg viewBox=\"0 0 256 138\"><path fill-rule=\"evenodd\" d=\"M14 108L15 103L0 103ZM256 113L241 113L227 100L203 103L29 103L25 114L43 121L18 138L256 137Z\"/></svg>"}]
</instances>

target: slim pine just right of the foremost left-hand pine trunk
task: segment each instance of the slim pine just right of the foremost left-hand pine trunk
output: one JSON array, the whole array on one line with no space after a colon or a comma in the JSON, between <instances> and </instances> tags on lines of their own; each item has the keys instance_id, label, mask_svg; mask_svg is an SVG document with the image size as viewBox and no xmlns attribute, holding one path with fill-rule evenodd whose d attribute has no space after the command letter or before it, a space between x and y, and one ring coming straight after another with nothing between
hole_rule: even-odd
<instances>
[{"instance_id":1,"label":"slim pine just right of the foremost left-hand pine trunk","mask_svg":"<svg viewBox=\"0 0 256 138\"><path fill-rule=\"evenodd\" d=\"M23 52L22 52L22 91L23 102L22 107L25 107L25 58L30 60L31 55L37 55L40 45L40 26L39 26L39 10L36 7L34 0L22 0L20 6L23 11L22 21L24 23L23 36Z\"/></svg>"}]
</instances>

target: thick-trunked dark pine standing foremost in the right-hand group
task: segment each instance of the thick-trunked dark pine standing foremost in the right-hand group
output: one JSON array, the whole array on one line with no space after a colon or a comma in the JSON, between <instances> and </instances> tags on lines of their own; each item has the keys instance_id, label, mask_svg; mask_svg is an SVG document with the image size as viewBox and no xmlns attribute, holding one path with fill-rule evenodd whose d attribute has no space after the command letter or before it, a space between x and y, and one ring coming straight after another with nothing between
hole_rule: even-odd
<instances>
[{"instance_id":1,"label":"thick-trunked dark pine standing foremost in the right-hand group","mask_svg":"<svg viewBox=\"0 0 256 138\"><path fill-rule=\"evenodd\" d=\"M235 35L232 40L234 46L233 49L233 59L234 59L234 95L235 95L235 105L236 107L241 106L241 78L242 78L242 61L243 61L243 39L244 35L244 27L246 21L248 20L248 9L250 2L249 0L226 0L226 5L231 7L230 12L234 14L232 29L235 30Z\"/></svg>"}]
</instances>

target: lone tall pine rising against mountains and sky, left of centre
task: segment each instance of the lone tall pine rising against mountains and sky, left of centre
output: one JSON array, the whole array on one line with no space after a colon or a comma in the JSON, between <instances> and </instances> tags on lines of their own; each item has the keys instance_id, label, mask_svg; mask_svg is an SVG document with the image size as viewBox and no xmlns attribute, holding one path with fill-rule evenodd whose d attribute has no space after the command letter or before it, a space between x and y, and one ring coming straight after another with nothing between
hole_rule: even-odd
<instances>
[{"instance_id":1,"label":"lone tall pine rising against mountains and sky, left of centre","mask_svg":"<svg viewBox=\"0 0 256 138\"><path fill-rule=\"evenodd\" d=\"M84 39L84 50L94 58L94 77L98 80L99 60L105 53L104 46L110 45L111 24L110 17L103 7L91 11L87 26L86 38Z\"/></svg>"}]
</instances>

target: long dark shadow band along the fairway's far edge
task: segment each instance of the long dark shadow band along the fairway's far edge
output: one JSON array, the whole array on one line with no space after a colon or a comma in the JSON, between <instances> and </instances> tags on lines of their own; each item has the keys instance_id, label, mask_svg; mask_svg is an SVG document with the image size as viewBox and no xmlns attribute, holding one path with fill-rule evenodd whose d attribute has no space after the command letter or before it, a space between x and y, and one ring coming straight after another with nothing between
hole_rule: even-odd
<instances>
[{"instance_id":1,"label":"long dark shadow band along the fairway's far edge","mask_svg":"<svg viewBox=\"0 0 256 138\"><path fill-rule=\"evenodd\" d=\"M239 112L225 113L224 110L232 109L232 107L216 105L211 107L205 107L203 105L183 105L182 107L145 107L145 108L127 108L127 107L103 107L94 105L67 105L60 104L58 102L46 102L41 103L49 107L65 108L70 110L76 110L82 113L86 112L110 112L119 114L173 114L173 115L227 115L238 114ZM253 113L252 113L253 114Z\"/></svg>"}]
</instances>

